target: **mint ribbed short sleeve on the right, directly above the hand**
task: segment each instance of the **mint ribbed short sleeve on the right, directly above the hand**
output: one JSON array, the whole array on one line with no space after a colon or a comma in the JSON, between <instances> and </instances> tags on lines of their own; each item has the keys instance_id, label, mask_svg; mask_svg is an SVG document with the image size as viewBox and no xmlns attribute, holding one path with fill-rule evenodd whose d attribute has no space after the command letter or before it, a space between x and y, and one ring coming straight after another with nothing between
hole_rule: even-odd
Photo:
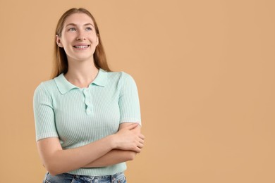
<instances>
[{"instance_id":1,"label":"mint ribbed short sleeve on the right, directly above the hand","mask_svg":"<svg viewBox=\"0 0 275 183\"><path fill-rule=\"evenodd\" d=\"M139 122L141 125L138 89L133 77L125 72L122 72L121 75L118 105L121 115L120 123Z\"/></svg>"}]
</instances>

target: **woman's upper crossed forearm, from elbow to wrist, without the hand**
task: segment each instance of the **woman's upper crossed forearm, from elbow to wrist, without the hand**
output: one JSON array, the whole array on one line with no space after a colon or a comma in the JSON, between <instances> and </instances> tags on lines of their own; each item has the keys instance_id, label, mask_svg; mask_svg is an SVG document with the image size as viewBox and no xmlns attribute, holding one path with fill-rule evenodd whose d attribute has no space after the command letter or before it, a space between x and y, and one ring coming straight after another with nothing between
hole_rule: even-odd
<instances>
[{"instance_id":1,"label":"woman's upper crossed forearm, from elbow to wrist, without the hand","mask_svg":"<svg viewBox=\"0 0 275 183\"><path fill-rule=\"evenodd\" d=\"M47 143L47 142L46 142ZM43 148L49 148L47 145ZM111 136L75 149L56 150L44 155L44 165L51 175L82 168L113 149ZM43 151L41 149L40 151ZM43 153L40 153L43 154Z\"/></svg>"}]
</instances>

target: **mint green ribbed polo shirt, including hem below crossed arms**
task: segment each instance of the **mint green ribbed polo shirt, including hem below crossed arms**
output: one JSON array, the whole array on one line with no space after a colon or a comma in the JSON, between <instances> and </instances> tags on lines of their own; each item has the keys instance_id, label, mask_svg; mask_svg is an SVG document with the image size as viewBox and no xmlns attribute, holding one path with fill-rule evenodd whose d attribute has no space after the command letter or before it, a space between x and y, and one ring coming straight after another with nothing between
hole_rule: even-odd
<instances>
[{"instance_id":1,"label":"mint green ribbed polo shirt, including hem below crossed arms","mask_svg":"<svg viewBox=\"0 0 275 183\"><path fill-rule=\"evenodd\" d=\"M68 82L63 74L39 84L34 94L36 140L58 137L63 149L84 146L118 132L122 122L141 122L138 89L125 72L99 69L87 88ZM74 175L114 175L126 163L80 168Z\"/></svg>"}]
</instances>

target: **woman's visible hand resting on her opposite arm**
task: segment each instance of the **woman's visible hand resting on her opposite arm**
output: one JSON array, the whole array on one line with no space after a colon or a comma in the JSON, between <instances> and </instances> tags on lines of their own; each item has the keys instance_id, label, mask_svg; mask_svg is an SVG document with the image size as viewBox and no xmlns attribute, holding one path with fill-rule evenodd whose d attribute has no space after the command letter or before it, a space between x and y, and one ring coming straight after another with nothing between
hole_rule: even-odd
<instances>
[{"instance_id":1,"label":"woman's visible hand resting on her opposite arm","mask_svg":"<svg viewBox=\"0 0 275 183\"><path fill-rule=\"evenodd\" d=\"M114 134L116 149L135 151L140 153L144 144L144 135L138 130L138 123L127 125Z\"/></svg>"}]
</instances>

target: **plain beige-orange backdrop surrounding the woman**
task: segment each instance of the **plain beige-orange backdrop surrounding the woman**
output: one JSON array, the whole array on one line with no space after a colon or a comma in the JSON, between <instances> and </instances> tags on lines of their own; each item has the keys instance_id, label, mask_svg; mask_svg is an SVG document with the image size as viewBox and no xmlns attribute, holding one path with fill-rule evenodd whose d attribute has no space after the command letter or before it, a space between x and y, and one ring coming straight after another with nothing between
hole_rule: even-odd
<instances>
[{"instance_id":1,"label":"plain beige-orange backdrop surrounding the woman","mask_svg":"<svg viewBox=\"0 0 275 183\"><path fill-rule=\"evenodd\" d=\"M0 182L42 182L32 95L68 8L135 78L146 146L128 182L275 182L275 1L0 1Z\"/></svg>"}]
</instances>

